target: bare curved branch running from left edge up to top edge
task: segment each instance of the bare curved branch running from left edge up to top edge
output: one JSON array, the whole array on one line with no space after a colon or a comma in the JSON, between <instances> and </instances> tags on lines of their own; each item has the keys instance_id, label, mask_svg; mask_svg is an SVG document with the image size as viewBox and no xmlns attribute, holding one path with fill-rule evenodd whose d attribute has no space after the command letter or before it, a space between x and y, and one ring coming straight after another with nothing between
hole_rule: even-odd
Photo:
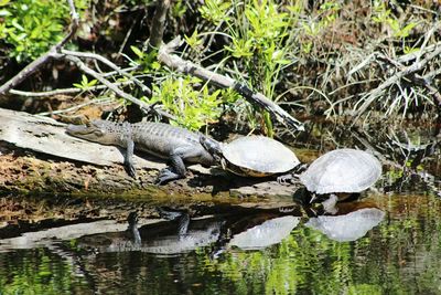
<instances>
[{"instance_id":1,"label":"bare curved branch running from left edge up to top edge","mask_svg":"<svg viewBox=\"0 0 441 295\"><path fill-rule=\"evenodd\" d=\"M56 53L60 51L64 44L66 44L76 33L78 29L78 13L75 10L75 6L73 0L67 0L69 9L71 9L71 30L67 35L60 41L57 44L52 46L45 54L41 55L39 59L28 64L20 73L9 80L7 83L0 86L0 96L6 95L21 82L23 82L26 77L35 73L43 64L47 63L50 60L54 59Z\"/></svg>"}]
</instances>

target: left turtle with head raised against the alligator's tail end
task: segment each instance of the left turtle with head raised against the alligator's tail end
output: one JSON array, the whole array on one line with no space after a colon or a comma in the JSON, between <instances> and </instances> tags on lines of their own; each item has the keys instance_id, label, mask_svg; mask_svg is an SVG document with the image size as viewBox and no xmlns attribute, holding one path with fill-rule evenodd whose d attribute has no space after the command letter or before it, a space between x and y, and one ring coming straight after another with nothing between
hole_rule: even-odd
<instances>
[{"instance_id":1,"label":"left turtle with head raised against the alligator's tail end","mask_svg":"<svg viewBox=\"0 0 441 295\"><path fill-rule=\"evenodd\" d=\"M244 136L228 144L201 136L200 141L224 170L237 176L268 177L288 172L300 164L292 150L266 136Z\"/></svg>"}]
</instances>

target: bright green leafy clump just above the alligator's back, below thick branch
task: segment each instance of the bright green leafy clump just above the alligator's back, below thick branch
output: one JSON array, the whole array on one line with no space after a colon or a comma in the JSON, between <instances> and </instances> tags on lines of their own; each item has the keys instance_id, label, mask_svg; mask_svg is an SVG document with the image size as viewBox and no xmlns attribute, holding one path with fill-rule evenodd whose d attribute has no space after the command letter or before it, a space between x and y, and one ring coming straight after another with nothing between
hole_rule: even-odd
<instances>
[{"instance_id":1,"label":"bright green leafy clump just above the alligator's back, below thick branch","mask_svg":"<svg viewBox=\"0 0 441 295\"><path fill-rule=\"evenodd\" d=\"M208 92L203 85L200 91L195 88L201 81L195 77L168 78L161 87L153 86L152 98L146 99L149 104L162 103L164 108L176 116L176 123L192 130L213 123L218 118L222 108L220 91Z\"/></svg>"}]
</instances>

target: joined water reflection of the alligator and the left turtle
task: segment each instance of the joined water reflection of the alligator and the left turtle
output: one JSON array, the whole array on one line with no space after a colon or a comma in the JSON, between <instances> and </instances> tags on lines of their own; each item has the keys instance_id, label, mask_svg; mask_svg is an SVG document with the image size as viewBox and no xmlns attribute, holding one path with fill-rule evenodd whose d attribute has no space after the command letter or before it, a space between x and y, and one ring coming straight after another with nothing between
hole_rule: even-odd
<instances>
[{"instance_id":1,"label":"joined water reflection of the alligator and the left turtle","mask_svg":"<svg viewBox=\"0 0 441 295\"><path fill-rule=\"evenodd\" d=\"M77 239L77 244L94 252L163 255L213 245L218 254L229 247L258 250L280 243L300 222L300 217L281 217L283 213L278 210L248 211L191 219L187 212L161 210L170 221L142 226L138 226L136 214L130 214L126 231L85 235Z\"/></svg>"}]
</instances>

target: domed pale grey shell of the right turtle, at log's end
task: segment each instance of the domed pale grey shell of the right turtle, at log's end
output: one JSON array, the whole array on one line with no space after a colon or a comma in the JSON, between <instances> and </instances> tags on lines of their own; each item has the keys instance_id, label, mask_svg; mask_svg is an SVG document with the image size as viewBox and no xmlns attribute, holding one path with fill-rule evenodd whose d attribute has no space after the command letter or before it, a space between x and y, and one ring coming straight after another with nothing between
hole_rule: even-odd
<instances>
[{"instance_id":1,"label":"domed pale grey shell of the right turtle, at log's end","mask_svg":"<svg viewBox=\"0 0 441 295\"><path fill-rule=\"evenodd\" d=\"M309 191L322 194L361 192L380 175L381 164L372 154L344 148L319 157L299 178Z\"/></svg>"}]
</instances>

